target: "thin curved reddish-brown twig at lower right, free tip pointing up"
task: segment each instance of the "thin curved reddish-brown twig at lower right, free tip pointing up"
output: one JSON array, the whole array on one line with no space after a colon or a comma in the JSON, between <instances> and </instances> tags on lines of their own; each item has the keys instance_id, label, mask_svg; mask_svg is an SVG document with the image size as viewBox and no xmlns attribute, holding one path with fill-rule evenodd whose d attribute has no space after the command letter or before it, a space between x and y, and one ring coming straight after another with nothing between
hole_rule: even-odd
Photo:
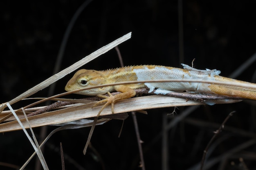
<instances>
[{"instance_id":1,"label":"thin curved reddish-brown twig at lower right, free tip pointing up","mask_svg":"<svg viewBox=\"0 0 256 170\"><path fill-rule=\"evenodd\" d=\"M227 118L225 118L225 120L222 122L222 124L220 125L220 128L215 131L213 137L211 138L211 140L209 141L209 143L207 144L206 148L204 149L204 154L203 154L203 157L202 157L202 161L201 161L201 167L200 167L200 170L203 169L204 167L204 160L205 160L205 157L206 157L206 154L207 154L207 151L209 150L209 147L211 146L211 143L213 142L213 140L220 134L220 132L222 131L222 129L224 129L224 125L225 123L227 122L227 120L233 116L233 113L235 113L236 111L232 111L231 113L229 113L229 115L227 116Z\"/></svg>"}]
</instances>

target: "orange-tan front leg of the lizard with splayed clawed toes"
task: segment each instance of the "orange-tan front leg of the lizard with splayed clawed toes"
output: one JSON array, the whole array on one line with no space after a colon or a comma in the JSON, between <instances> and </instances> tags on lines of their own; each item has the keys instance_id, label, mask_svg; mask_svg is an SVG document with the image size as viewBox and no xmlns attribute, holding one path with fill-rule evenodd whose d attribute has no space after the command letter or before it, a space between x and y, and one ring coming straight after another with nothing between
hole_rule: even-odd
<instances>
[{"instance_id":1,"label":"orange-tan front leg of the lizard with splayed clawed toes","mask_svg":"<svg viewBox=\"0 0 256 170\"><path fill-rule=\"evenodd\" d=\"M130 87L127 87L125 85L116 85L114 87L115 91L117 92L121 92L120 94L116 94L115 96L113 96L112 94L110 94L110 92L108 92L108 95L109 96L104 96L104 95L97 95L98 97L102 97L102 98L105 98L99 102L97 102L93 107L103 103L103 102L106 102L103 107L101 107L97 117L99 117L101 111L107 107L110 103L111 103L111 110L112 110L112 113L114 113L114 105L115 105L115 102L119 101L119 100L123 100L123 99L126 99L126 98L131 98L133 96L135 96L136 92L134 91L134 89L130 88Z\"/></svg>"}]
</instances>

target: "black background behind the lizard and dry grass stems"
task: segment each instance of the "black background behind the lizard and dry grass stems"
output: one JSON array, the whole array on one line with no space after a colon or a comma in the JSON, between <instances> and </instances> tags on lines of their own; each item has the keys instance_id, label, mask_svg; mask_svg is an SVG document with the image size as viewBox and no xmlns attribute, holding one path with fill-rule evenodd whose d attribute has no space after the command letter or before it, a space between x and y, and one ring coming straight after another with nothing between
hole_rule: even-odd
<instances>
[{"instance_id":1,"label":"black background behind the lizard and dry grass stems","mask_svg":"<svg viewBox=\"0 0 256 170\"><path fill-rule=\"evenodd\" d=\"M52 75L63 35L72 16L84 1L4 1L0 2L0 102L7 102ZM256 1L183 1L184 61L198 69L218 69L229 76L255 52ZM180 67L178 4L172 0L94 0L75 22L65 48L61 69L79 61L98 48L132 31L132 38L119 45L125 65L158 64ZM255 63L237 79L253 80ZM115 50L102 55L83 68L105 70L119 67ZM54 94L64 92L68 75L57 82ZM49 88L34 94L46 97ZM76 96L79 98L80 96ZM253 103L200 106L168 133L170 169L189 169L199 163L203 150L229 112L236 111L227 127L216 139L210 158L230 153L231 149L255 137ZM255 105L255 102L254 102ZM17 105L21 107L22 104ZM177 114L165 117L171 122L187 107L176 109ZM139 130L144 141L146 169L162 169L162 117L173 108L138 113ZM190 122L190 123L189 123ZM192 123L194 122L194 123ZM205 124L202 124L205 123ZM140 169L137 140L131 116L124 122L112 120L97 126L92 145L102 158L89 149L82 154L89 128L56 133L44 151L50 169L61 169L62 142L66 169L134 170ZM216 124L217 126L214 126ZM47 133L55 127L49 127ZM40 129L35 129L39 136ZM241 131L240 134L237 132ZM250 135L248 135L250 134ZM254 142L255 143L255 142ZM21 166L33 152L22 131L0 135L0 162ZM68 158L70 157L70 158ZM239 158L249 169L256 169L256 144L237 150L221 159L210 169L243 169ZM71 158L76 163L71 162ZM34 169L35 159L26 169ZM222 166L221 166L222 165ZM0 169L8 169L1 167Z\"/></svg>"}]
</instances>

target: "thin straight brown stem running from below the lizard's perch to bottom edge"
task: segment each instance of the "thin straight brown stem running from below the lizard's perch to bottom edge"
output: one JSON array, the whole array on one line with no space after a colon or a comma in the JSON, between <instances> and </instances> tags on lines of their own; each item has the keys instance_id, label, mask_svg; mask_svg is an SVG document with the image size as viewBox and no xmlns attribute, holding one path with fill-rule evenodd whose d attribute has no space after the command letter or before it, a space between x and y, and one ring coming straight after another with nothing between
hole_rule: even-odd
<instances>
[{"instance_id":1,"label":"thin straight brown stem running from below the lizard's perch to bottom edge","mask_svg":"<svg viewBox=\"0 0 256 170\"><path fill-rule=\"evenodd\" d=\"M132 111L132 119L133 119L133 122L134 122L134 128L135 128L135 132L136 132L136 136L137 136L137 142L138 142L138 147L139 147L139 157L140 157L140 161L141 161L141 169L142 170L146 170L145 163L144 163L144 158L143 158L142 146L141 146L142 142L141 142L140 135L139 135L138 122L137 122L136 114L135 114L134 111Z\"/></svg>"}]
</instances>

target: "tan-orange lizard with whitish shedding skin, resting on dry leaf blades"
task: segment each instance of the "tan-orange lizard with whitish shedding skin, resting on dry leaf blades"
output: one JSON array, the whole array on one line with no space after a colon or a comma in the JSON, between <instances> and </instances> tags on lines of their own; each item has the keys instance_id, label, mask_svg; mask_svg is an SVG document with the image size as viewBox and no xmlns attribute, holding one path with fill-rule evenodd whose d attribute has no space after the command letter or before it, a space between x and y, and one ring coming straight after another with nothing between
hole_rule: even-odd
<instances>
[{"instance_id":1,"label":"tan-orange lizard with whitish shedding skin, resting on dry leaf blades","mask_svg":"<svg viewBox=\"0 0 256 170\"><path fill-rule=\"evenodd\" d=\"M233 78L219 76L219 70L198 70L189 65L182 64L182 68L168 67L162 65L136 65L126 66L121 68L97 71L97 70L78 70L74 76L67 82L65 90L67 92L85 87L92 87L96 85L104 85L109 83L117 83L124 81L144 81L144 80L158 80L158 79L195 79L195 80L211 80L232 83L243 83L249 85L256 85L245 81L239 81ZM135 96L134 89L148 87L149 92L154 89L155 94L167 94L169 92L189 92L199 94L216 94L225 96L236 96L241 98L248 98L256 100L256 89L231 87L230 85L219 85L211 83L200 82L154 82L154 83L135 83L126 85L114 85L100 88L94 88L76 92L76 94L83 94L87 96L99 96L104 98L98 101L94 106L103 102L105 105L100 109L97 117L101 111L109 104L111 104L112 113L114 113L115 102ZM121 92L112 96L110 92ZM108 94L109 96L103 96ZM93 107L94 107L93 106Z\"/></svg>"}]
</instances>

